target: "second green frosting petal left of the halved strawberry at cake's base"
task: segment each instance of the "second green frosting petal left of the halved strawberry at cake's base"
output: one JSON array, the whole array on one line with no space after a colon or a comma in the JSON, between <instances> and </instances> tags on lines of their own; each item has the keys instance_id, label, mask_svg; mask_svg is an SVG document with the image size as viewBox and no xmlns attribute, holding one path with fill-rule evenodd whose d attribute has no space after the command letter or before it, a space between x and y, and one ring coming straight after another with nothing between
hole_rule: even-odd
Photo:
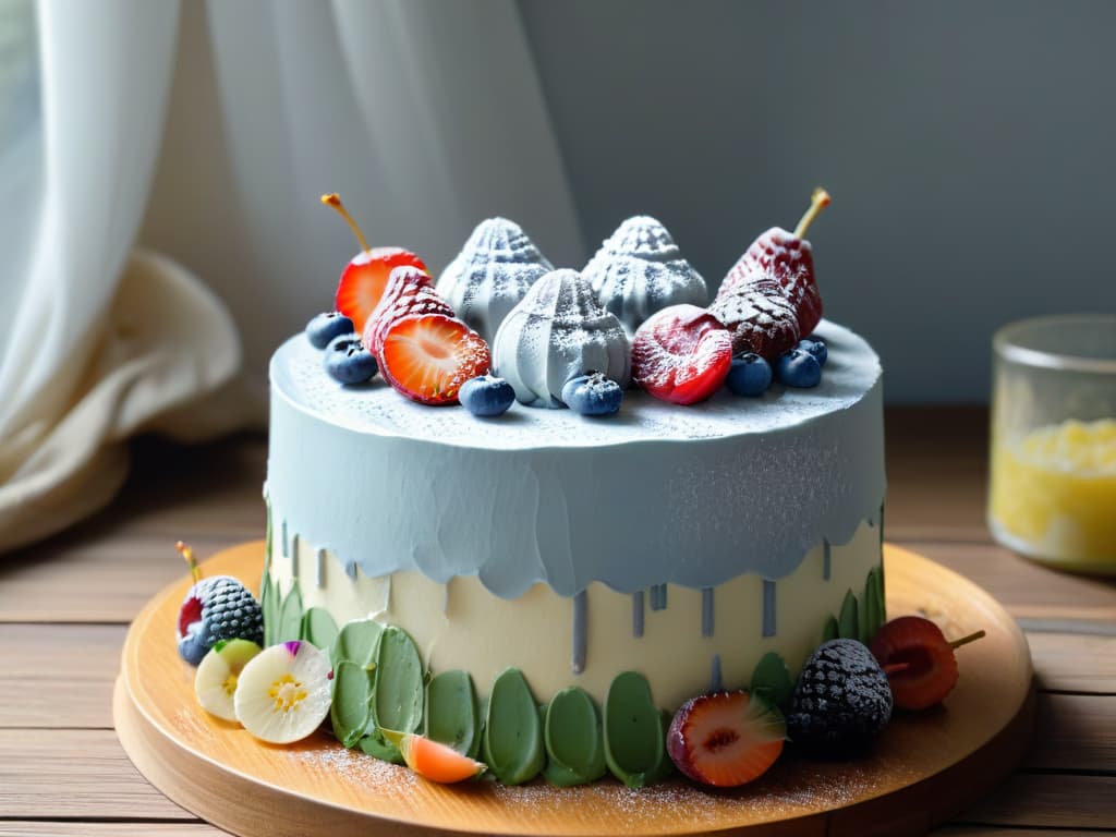
<instances>
[{"instance_id":1,"label":"second green frosting petal left of the halved strawberry at cake's base","mask_svg":"<svg viewBox=\"0 0 1116 837\"><path fill-rule=\"evenodd\" d=\"M550 700L543 740L549 757L546 777L552 785L584 785L608 770L600 711L583 689L564 689Z\"/></svg>"}]
</instances>

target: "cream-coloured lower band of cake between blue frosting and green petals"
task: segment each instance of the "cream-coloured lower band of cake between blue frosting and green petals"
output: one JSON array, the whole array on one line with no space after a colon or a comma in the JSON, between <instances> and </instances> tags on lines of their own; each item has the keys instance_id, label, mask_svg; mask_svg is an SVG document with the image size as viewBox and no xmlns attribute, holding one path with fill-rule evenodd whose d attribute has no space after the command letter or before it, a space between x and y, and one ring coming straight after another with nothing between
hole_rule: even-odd
<instances>
[{"instance_id":1,"label":"cream-coloured lower band of cake between blue frosting and green petals","mask_svg":"<svg viewBox=\"0 0 1116 837\"><path fill-rule=\"evenodd\" d=\"M637 671L655 702L673 711L718 676L727 687L747 686L768 652L797 675L849 591L868 606L866 579L881 545L878 523L865 522L847 543L809 550L778 581L747 573L705 590L663 585L634 594L595 583L575 597L536 584L502 599L475 577L350 578L331 554L288 530L272 538L270 573L280 598L297 586L304 607L325 608L338 625L371 617L404 628L433 673L468 671L482 695L516 666L537 700L576 685L603 702L618 673Z\"/></svg>"}]
</instances>

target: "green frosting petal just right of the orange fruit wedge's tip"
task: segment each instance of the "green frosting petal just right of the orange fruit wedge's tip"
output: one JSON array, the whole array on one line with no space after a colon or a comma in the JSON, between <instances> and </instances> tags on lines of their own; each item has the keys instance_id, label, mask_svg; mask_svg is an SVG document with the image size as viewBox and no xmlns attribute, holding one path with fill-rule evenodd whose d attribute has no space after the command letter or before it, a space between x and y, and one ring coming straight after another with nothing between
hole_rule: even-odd
<instances>
[{"instance_id":1,"label":"green frosting petal just right of the orange fruit wedge's tip","mask_svg":"<svg viewBox=\"0 0 1116 837\"><path fill-rule=\"evenodd\" d=\"M538 704L518 668L492 683L483 741L484 761L504 785L530 781L546 764Z\"/></svg>"}]
</instances>

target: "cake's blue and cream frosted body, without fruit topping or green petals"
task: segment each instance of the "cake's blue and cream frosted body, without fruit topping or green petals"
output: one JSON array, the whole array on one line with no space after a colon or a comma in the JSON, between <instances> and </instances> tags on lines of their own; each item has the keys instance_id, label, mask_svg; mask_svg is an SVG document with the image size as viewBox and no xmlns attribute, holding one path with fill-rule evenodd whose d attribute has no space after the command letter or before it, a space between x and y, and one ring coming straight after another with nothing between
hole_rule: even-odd
<instances>
[{"instance_id":1,"label":"cake's blue and cream frosted body, without fruit topping or green petals","mask_svg":"<svg viewBox=\"0 0 1116 837\"><path fill-rule=\"evenodd\" d=\"M797 670L863 598L883 531L879 364L848 329L817 334L810 389L488 421L338 387L296 335L270 367L275 595L397 625L482 692L516 666L543 702L604 701L632 668L673 711L769 651Z\"/></svg>"}]
</instances>

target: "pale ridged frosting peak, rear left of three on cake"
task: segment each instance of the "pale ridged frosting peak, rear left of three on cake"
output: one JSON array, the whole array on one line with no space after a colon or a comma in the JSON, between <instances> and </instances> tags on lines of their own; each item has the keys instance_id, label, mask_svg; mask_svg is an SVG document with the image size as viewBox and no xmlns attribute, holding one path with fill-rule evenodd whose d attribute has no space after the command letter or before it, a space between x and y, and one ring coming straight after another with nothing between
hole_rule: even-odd
<instances>
[{"instance_id":1,"label":"pale ridged frosting peak, rear left of three on cake","mask_svg":"<svg viewBox=\"0 0 1116 837\"><path fill-rule=\"evenodd\" d=\"M491 345L527 290L554 267L514 221L481 221L437 280L437 292Z\"/></svg>"}]
</instances>

